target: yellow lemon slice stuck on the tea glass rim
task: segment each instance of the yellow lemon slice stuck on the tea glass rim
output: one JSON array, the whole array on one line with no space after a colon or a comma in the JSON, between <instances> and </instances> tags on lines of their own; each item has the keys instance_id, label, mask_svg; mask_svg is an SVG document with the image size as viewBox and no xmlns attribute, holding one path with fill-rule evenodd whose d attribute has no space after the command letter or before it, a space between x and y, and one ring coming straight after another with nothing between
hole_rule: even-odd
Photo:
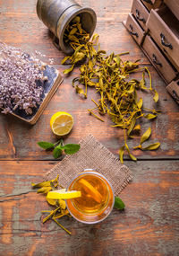
<instances>
[{"instance_id":1,"label":"yellow lemon slice stuck on the tea glass rim","mask_svg":"<svg viewBox=\"0 0 179 256\"><path fill-rule=\"evenodd\" d=\"M76 199L81 197L81 191L55 190L47 193L47 199Z\"/></svg>"}]
</instances>

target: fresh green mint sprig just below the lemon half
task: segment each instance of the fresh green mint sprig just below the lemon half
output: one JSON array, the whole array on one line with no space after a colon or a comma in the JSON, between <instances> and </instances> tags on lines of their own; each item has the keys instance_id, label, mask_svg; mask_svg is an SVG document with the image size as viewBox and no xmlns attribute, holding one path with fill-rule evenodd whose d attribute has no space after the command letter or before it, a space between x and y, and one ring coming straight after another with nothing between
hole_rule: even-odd
<instances>
[{"instance_id":1,"label":"fresh green mint sprig just below the lemon half","mask_svg":"<svg viewBox=\"0 0 179 256\"><path fill-rule=\"evenodd\" d=\"M80 145L79 144L66 144L64 145L63 140L57 141L55 144L47 141L39 141L38 146L42 147L46 150L53 150L53 156L57 159L59 156L63 154L74 154L79 151Z\"/></svg>"}]
</instances>

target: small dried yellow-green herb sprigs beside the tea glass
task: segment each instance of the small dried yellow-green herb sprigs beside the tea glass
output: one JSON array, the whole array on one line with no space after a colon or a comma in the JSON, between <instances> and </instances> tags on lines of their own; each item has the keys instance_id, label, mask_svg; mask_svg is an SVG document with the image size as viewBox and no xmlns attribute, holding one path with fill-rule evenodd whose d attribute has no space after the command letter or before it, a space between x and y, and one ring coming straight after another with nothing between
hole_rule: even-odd
<instances>
[{"instance_id":1,"label":"small dried yellow-green herb sprigs beside the tea glass","mask_svg":"<svg viewBox=\"0 0 179 256\"><path fill-rule=\"evenodd\" d=\"M58 183L58 177L59 175L55 178L55 180L52 181L43 181L38 184L31 183L31 186L33 189L38 188L38 193L47 195L47 192L49 192L50 190L58 190L58 187L62 188L62 186ZM41 211L42 213L48 213L48 215L42 220L42 222L45 223L47 222L47 220L52 219L57 225L63 228L66 233L71 234L70 231L64 228L64 226L57 221L57 219L60 219L63 216L71 216L69 211L67 210L64 199L47 199L47 203L55 207L55 209Z\"/></svg>"}]
</instances>

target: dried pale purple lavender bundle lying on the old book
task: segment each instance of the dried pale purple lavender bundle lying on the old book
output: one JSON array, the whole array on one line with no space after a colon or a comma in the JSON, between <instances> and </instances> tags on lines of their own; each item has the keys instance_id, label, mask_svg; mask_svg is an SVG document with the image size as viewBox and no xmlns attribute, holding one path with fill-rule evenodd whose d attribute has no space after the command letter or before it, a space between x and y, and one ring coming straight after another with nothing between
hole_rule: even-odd
<instances>
[{"instance_id":1,"label":"dried pale purple lavender bundle lying on the old book","mask_svg":"<svg viewBox=\"0 0 179 256\"><path fill-rule=\"evenodd\" d=\"M46 65L21 49L0 43L0 108L31 115L42 102Z\"/></svg>"}]
</instances>

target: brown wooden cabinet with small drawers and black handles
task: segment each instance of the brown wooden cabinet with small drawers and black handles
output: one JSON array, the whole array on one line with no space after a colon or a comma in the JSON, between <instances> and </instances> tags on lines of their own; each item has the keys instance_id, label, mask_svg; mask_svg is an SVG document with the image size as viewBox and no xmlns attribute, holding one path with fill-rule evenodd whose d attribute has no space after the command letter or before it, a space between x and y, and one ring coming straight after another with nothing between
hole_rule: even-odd
<instances>
[{"instance_id":1,"label":"brown wooden cabinet with small drawers and black handles","mask_svg":"<svg viewBox=\"0 0 179 256\"><path fill-rule=\"evenodd\" d=\"M179 103L179 0L133 0L124 26Z\"/></svg>"}]
</instances>

